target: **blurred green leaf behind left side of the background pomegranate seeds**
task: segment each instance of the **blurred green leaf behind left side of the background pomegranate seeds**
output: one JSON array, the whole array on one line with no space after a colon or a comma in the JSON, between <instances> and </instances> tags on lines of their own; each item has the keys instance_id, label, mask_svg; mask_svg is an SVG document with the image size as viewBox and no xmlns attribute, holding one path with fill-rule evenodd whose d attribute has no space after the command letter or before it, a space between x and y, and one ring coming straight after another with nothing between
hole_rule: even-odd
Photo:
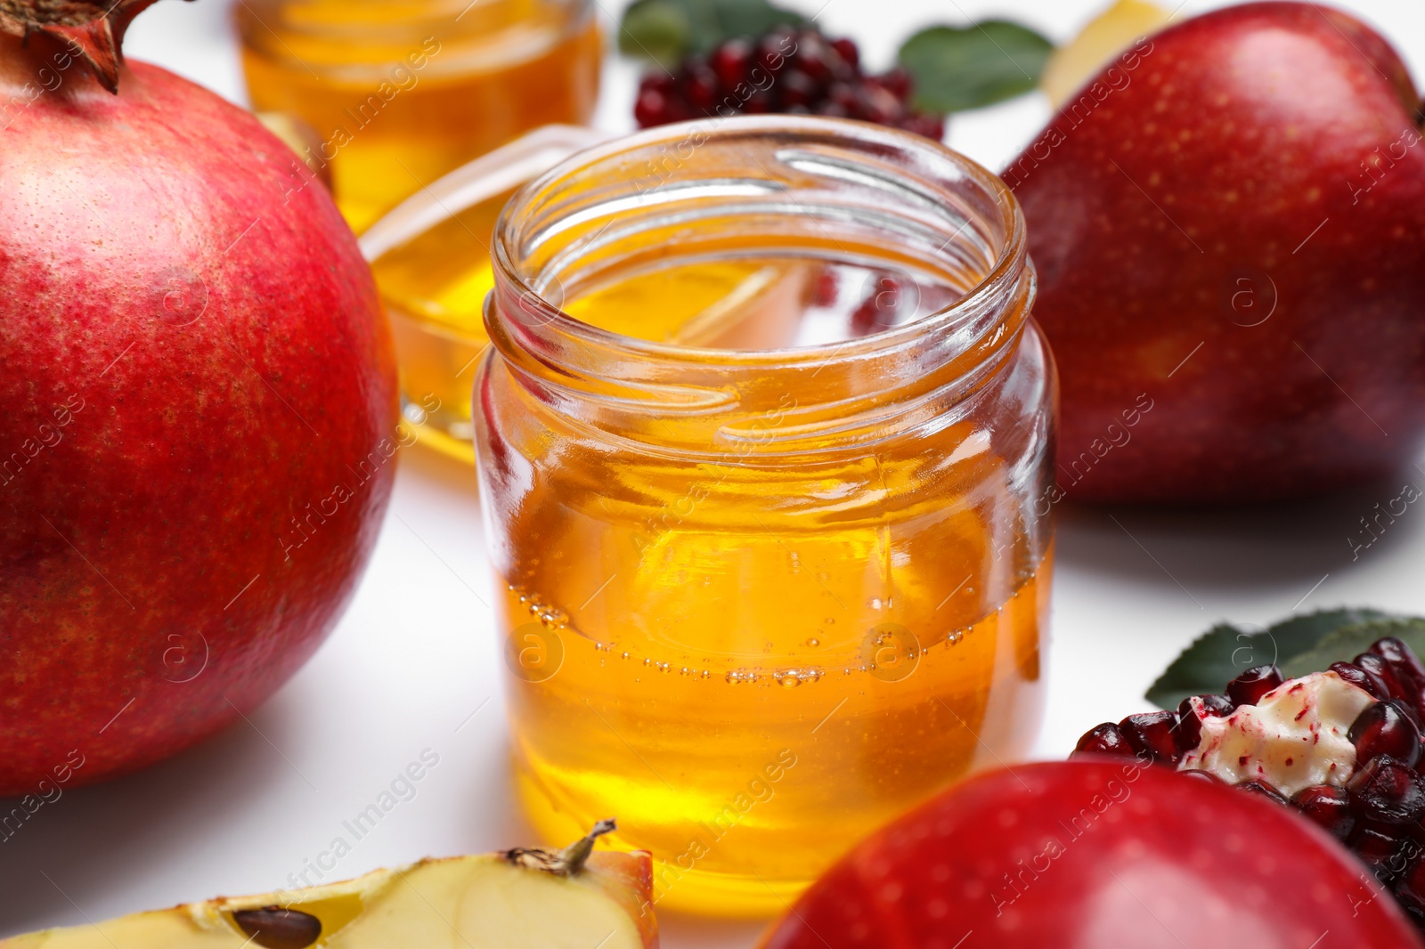
<instances>
[{"instance_id":1,"label":"blurred green leaf behind left side of the background pomegranate seeds","mask_svg":"<svg viewBox=\"0 0 1425 949\"><path fill-rule=\"evenodd\" d=\"M673 70L690 53L732 37L757 37L802 16L768 0L637 0L618 30L618 51Z\"/></svg>"}]
</instances>

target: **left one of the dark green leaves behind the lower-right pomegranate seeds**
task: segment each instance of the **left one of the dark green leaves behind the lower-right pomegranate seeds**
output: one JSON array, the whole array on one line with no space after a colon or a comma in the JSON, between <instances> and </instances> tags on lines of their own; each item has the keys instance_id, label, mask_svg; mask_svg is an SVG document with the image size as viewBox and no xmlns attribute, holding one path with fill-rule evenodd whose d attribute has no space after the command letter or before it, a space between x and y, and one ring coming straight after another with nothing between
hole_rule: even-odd
<instances>
[{"instance_id":1,"label":"left one of the dark green leaves behind the lower-right pomegranate seeds","mask_svg":"<svg viewBox=\"0 0 1425 949\"><path fill-rule=\"evenodd\" d=\"M1291 658L1310 651L1328 634L1342 627L1389 618L1379 610L1324 610L1291 617L1261 631L1220 623L1173 660L1173 664L1149 688L1146 698L1159 708L1177 708L1178 702L1188 695L1221 693L1227 683L1253 665L1277 663L1285 671ZM1389 634L1382 633L1381 636ZM1355 650L1345 658L1349 660L1361 651ZM1335 660L1307 671L1325 668L1332 661Z\"/></svg>"}]
</instances>

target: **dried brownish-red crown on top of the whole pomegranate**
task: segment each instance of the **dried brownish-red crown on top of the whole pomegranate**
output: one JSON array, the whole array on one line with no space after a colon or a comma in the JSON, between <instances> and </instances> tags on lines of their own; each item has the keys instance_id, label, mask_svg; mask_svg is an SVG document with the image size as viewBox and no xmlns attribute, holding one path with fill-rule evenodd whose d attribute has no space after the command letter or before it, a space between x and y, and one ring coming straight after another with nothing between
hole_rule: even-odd
<instances>
[{"instance_id":1,"label":"dried brownish-red crown on top of the whole pomegranate","mask_svg":"<svg viewBox=\"0 0 1425 949\"><path fill-rule=\"evenodd\" d=\"M111 93L118 93L124 31L154 0L0 0L0 33L24 43L40 34L83 60Z\"/></svg>"}]
</instances>

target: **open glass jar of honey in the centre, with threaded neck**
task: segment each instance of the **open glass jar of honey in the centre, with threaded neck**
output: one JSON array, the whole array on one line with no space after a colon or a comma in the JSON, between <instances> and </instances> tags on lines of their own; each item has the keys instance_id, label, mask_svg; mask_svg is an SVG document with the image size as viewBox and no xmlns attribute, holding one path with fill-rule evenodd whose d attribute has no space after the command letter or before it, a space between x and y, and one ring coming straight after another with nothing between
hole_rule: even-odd
<instances>
[{"instance_id":1,"label":"open glass jar of honey in the centre, with threaded neck","mask_svg":"<svg viewBox=\"0 0 1425 949\"><path fill-rule=\"evenodd\" d=\"M519 795L663 905L781 911L1027 751L1053 362L1013 195L929 140L755 117L504 208L475 383Z\"/></svg>"}]
</instances>

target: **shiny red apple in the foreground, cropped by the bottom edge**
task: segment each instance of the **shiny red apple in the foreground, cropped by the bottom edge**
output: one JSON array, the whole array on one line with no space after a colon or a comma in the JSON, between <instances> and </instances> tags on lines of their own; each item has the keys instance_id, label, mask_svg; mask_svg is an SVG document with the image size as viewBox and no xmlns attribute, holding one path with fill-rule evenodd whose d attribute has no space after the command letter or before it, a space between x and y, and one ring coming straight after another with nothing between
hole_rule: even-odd
<instances>
[{"instance_id":1,"label":"shiny red apple in the foreground, cropped by the bottom edge","mask_svg":"<svg viewBox=\"0 0 1425 949\"><path fill-rule=\"evenodd\" d=\"M1421 949L1285 808L1136 759L975 777L856 846L762 949Z\"/></svg>"}]
</instances>

